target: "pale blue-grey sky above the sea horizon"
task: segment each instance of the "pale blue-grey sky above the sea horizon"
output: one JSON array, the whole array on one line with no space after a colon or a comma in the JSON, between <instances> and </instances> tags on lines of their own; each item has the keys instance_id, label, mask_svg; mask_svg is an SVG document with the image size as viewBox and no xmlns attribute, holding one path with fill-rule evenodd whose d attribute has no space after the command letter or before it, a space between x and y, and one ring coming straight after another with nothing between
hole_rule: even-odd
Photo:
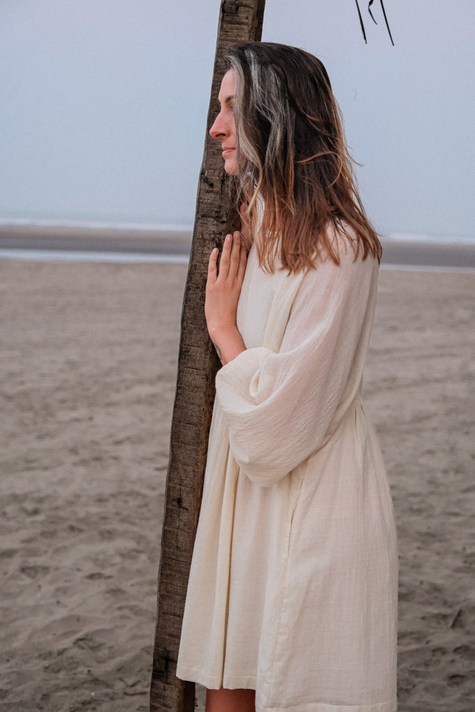
<instances>
[{"instance_id":1,"label":"pale blue-grey sky above the sea horizon","mask_svg":"<svg viewBox=\"0 0 475 712\"><path fill-rule=\"evenodd\" d=\"M219 0L0 0L0 219L192 224ZM475 239L473 0L267 0L325 63L378 230Z\"/></svg>"}]
</instances>

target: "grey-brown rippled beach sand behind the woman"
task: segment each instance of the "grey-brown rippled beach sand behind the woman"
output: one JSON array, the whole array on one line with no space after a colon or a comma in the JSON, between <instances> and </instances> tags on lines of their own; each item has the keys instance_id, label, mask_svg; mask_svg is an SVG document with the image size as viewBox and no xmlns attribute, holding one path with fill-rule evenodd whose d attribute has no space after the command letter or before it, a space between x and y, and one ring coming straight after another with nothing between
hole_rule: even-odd
<instances>
[{"instance_id":1,"label":"grey-brown rippled beach sand behind the woman","mask_svg":"<svg viewBox=\"0 0 475 712\"><path fill-rule=\"evenodd\" d=\"M145 712L183 265L0 261L0 711ZM475 273L382 271L401 712L473 712Z\"/></svg>"}]
</instances>

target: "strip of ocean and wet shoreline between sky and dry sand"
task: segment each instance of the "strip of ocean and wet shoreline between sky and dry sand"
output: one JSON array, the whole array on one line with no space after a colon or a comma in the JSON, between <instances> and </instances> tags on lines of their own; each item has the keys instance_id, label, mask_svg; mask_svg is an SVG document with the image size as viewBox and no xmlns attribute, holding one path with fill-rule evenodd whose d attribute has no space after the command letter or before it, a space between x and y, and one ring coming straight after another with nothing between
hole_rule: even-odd
<instances>
[{"instance_id":1,"label":"strip of ocean and wet shoreline between sky and dry sand","mask_svg":"<svg viewBox=\"0 0 475 712\"><path fill-rule=\"evenodd\" d=\"M187 263L191 224L0 218L0 258ZM475 270L475 235L388 232L382 268Z\"/></svg>"}]
</instances>

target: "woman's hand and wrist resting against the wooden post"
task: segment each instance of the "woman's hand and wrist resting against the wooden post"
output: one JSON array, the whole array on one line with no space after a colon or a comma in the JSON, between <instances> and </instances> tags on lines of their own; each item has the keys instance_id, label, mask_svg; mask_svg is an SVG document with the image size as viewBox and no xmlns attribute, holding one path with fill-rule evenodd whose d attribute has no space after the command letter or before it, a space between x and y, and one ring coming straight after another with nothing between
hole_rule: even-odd
<instances>
[{"instance_id":1,"label":"woman's hand and wrist resting against the wooden post","mask_svg":"<svg viewBox=\"0 0 475 712\"><path fill-rule=\"evenodd\" d=\"M209 257L204 315L219 360L224 365L246 350L236 325L237 305L246 273L246 248L239 232L226 235L219 272L218 249Z\"/></svg>"}]
</instances>

